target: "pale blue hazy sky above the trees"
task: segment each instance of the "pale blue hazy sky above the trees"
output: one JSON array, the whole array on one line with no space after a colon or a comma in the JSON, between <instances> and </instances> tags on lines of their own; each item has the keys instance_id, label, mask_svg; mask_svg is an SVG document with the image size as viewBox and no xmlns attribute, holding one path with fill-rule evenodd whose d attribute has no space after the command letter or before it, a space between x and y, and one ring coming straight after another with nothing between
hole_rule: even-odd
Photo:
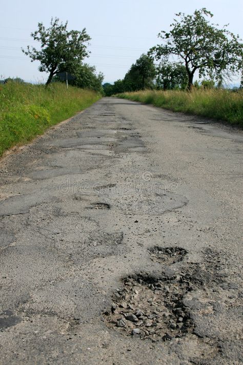
<instances>
[{"instance_id":1,"label":"pale blue hazy sky above the trees","mask_svg":"<svg viewBox=\"0 0 243 365\"><path fill-rule=\"evenodd\" d=\"M30 62L21 47L37 46L30 36L38 22L46 27L51 17L68 21L68 28L86 28L91 36L90 57L86 60L103 72L104 82L123 79L142 53L159 43L157 34L169 30L175 13L192 14L207 8L213 23L243 38L242 0L8 0L1 4L0 79L20 77L42 83L47 74L38 71L38 62ZM239 81L235 76L233 83Z\"/></svg>"}]
</instances>

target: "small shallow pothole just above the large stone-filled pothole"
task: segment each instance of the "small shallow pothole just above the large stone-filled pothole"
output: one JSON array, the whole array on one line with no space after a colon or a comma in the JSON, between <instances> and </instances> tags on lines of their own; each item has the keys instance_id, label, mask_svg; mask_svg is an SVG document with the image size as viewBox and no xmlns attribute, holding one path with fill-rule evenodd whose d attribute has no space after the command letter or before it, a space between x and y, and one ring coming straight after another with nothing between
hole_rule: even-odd
<instances>
[{"instance_id":1,"label":"small shallow pothole just above the large stone-filled pothole","mask_svg":"<svg viewBox=\"0 0 243 365\"><path fill-rule=\"evenodd\" d=\"M151 260L156 262L165 262L166 264L173 264L182 261L184 256L188 254L186 249L181 247L159 247L154 246L149 248Z\"/></svg>"}]
</instances>

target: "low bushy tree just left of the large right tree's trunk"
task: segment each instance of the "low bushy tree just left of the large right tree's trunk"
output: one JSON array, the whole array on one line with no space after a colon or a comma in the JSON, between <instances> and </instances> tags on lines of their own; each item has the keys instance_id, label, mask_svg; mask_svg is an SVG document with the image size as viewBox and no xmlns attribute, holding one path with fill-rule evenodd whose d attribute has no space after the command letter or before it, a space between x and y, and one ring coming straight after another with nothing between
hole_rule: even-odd
<instances>
[{"instance_id":1,"label":"low bushy tree just left of the large right tree's trunk","mask_svg":"<svg viewBox=\"0 0 243 365\"><path fill-rule=\"evenodd\" d=\"M158 89L185 89L188 83L187 70L176 62L161 62L157 66L156 87Z\"/></svg>"}]
</instances>

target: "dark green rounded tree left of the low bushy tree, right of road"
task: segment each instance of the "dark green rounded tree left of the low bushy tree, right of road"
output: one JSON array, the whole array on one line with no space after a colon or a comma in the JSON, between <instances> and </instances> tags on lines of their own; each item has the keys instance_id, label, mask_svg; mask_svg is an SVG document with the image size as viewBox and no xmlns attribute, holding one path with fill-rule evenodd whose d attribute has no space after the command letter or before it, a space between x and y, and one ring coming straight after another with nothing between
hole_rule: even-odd
<instances>
[{"instance_id":1,"label":"dark green rounded tree left of the low bushy tree, right of road","mask_svg":"<svg viewBox=\"0 0 243 365\"><path fill-rule=\"evenodd\" d=\"M147 54L142 54L125 75L126 91L153 88L155 75L156 69L152 58Z\"/></svg>"}]
</instances>

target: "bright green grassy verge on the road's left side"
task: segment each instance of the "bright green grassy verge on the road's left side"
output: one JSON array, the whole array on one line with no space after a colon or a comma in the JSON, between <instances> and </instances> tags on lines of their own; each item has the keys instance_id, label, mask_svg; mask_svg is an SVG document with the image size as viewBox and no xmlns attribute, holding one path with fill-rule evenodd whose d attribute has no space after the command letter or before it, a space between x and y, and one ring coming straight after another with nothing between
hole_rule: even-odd
<instances>
[{"instance_id":1,"label":"bright green grassy verge on the road's left side","mask_svg":"<svg viewBox=\"0 0 243 365\"><path fill-rule=\"evenodd\" d=\"M0 156L17 144L31 141L47 128L72 117L101 95L64 84L32 85L9 82L0 85Z\"/></svg>"}]
</instances>

